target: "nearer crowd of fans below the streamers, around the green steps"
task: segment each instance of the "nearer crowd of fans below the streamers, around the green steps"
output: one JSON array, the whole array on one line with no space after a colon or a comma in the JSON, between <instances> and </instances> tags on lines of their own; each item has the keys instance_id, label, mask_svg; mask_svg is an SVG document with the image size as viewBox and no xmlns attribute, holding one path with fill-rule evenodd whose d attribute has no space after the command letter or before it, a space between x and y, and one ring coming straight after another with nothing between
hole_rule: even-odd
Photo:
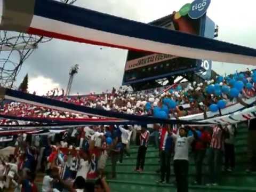
<instances>
[{"instance_id":1,"label":"nearer crowd of fans below the streamers, around the green steps","mask_svg":"<svg viewBox=\"0 0 256 192\"><path fill-rule=\"evenodd\" d=\"M251 130L254 130L251 122ZM69 129L54 135L19 135L15 152L1 157L0 187L15 187L15 191L39 191L36 173L45 174L42 191L110 191L106 182L116 179L116 164L130 156L131 143L138 145L134 171L145 170L149 140L159 151L158 183L175 184L178 191L188 191L189 154L194 156L194 185L219 185L222 166L226 172L235 169L235 125L189 127L167 124L135 126L91 126ZM252 143L251 147L254 149ZM206 150L207 156L206 156ZM255 152L250 150L249 171L255 171ZM0 154L1 156L1 154ZM207 157L209 172L204 173ZM225 163L222 164L222 158ZM107 169L110 159L111 170ZM171 162L175 178L171 178ZM203 174L209 175L203 181ZM96 181L92 183L91 181ZM83 190L77 190L83 189Z\"/></svg>"}]
</instances>

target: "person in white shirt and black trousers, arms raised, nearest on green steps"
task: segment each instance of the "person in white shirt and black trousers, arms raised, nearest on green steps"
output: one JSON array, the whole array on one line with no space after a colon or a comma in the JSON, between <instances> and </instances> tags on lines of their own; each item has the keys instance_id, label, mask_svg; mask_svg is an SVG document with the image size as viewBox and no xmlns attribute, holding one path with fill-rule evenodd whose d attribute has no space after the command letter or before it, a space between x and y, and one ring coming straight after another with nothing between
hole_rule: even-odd
<instances>
[{"instance_id":1,"label":"person in white shirt and black trousers, arms raised, nearest on green steps","mask_svg":"<svg viewBox=\"0 0 256 192\"><path fill-rule=\"evenodd\" d=\"M187 137L188 130L193 132L193 135ZM180 127L179 135L170 132L175 143L174 149L174 173L177 182L178 192L188 192L188 166L189 166L189 147L194 139L197 139L197 133L194 127Z\"/></svg>"}]
</instances>

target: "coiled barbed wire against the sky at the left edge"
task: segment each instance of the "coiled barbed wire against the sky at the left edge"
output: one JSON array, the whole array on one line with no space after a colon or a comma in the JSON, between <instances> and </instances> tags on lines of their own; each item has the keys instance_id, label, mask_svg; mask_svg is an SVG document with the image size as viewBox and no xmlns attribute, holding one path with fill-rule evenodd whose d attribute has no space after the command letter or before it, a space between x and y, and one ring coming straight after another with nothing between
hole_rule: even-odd
<instances>
[{"instance_id":1,"label":"coiled barbed wire against the sky at the left edge","mask_svg":"<svg viewBox=\"0 0 256 192\"><path fill-rule=\"evenodd\" d=\"M74 4L77 0L59 0ZM23 63L30 57L38 44L51 41L52 38L0 31L0 86L15 89L14 82Z\"/></svg>"}]
</instances>

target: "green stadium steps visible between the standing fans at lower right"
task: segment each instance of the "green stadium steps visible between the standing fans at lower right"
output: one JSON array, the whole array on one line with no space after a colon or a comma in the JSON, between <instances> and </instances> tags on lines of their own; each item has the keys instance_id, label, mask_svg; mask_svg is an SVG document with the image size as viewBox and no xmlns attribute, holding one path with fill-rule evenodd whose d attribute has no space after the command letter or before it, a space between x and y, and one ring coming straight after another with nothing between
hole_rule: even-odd
<instances>
[{"instance_id":1,"label":"green stadium steps visible between the standing fans at lower right","mask_svg":"<svg viewBox=\"0 0 256 192\"><path fill-rule=\"evenodd\" d=\"M158 184L159 173L156 170L159 169L158 162L158 150L153 146L149 146L146 154L145 171L142 173L134 172L136 157L137 157L137 146L131 146L130 157L125 157L123 163L117 164L117 179L108 182L111 187L111 191L114 192L128 192L131 190L135 191L176 191L173 184ZM233 172L222 172L220 185L216 187L207 187L190 185L190 192L198 191L256 191L256 173L246 173L247 168L247 127L241 125L238 127L238 134L236 137L235 153L236 153L236 168ZM204 178L203 182L207 183L207 156L203 165ZM107 164L107 172L110 173L111 163ZM108 177L110 174L108 174ZM171 181L175 180L173 173L173 164L171 164ZM195 164L193 156L190 155L190 166L189 166L189 183L195 180Z\"/></svg>"}]
</instances>

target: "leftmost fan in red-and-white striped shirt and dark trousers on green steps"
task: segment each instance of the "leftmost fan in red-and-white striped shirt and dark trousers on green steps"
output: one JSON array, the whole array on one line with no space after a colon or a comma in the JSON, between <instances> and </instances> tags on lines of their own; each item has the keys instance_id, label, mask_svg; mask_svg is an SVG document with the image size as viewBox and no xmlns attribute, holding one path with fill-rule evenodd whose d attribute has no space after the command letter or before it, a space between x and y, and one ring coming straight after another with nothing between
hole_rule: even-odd
<instances>
[{"instance_id":1,"label":"leftmost fan in red-and-white striped shirt and dark trousers on green steps","mask_svg":"<svg viewBox=\"0 0 256 192\"><path fill-rule=\"evenodd\" d=\"M149 131L147 125L141 125L140 147L138 149L137 163L135 171L142 172L145 164L145 157L148 148Z\"/></svg>"}]
</instances>

